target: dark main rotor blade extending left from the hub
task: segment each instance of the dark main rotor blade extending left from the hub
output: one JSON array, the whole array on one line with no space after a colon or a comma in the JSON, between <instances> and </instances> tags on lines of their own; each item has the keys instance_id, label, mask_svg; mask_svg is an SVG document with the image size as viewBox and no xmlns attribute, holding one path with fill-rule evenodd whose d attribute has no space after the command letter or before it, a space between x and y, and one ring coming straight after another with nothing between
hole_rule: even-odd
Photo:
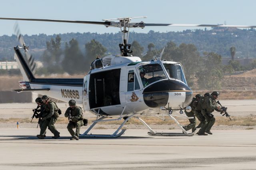
<instances>
[{"instance_id":1,"label":"dark main rotor blade extending left from the hub","mask_svg":"<svg viewBox=\"0 0 256 170\"><path fill-rule=\"evenodd\" d=\"M68 22L68 23L80 23L80 24L99 24L110 25L111 22L95 22L95 21L70 21L70 20L46 20L46 19L32 19L32 18L0 18L0 20L22 20L22 21L45 21L45 22Z\"/></svg>"}]
</instances>

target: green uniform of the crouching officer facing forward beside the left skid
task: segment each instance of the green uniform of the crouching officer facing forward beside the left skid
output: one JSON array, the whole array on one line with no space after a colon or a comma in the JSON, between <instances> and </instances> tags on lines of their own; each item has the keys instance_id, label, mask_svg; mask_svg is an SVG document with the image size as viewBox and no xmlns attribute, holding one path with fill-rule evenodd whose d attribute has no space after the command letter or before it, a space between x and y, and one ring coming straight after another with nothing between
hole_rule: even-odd
<instances>
[{"instance_id":1,"label":"green uniform of the crouching officer facing forward beside the left skid","mask_svg":"<svg viewBox=\"0 0 256 170\"><path fill-rule=\"evenodd\" d=\"M71 134L71 136L76 135L79 137L80 127L84 125L82 109L78 106L75 106L74 109L69 107L65 112L65 117L68 117L69 111L71 111L72 117L67 126L68 132ZM76 128L76 133L74 132L73 128Z\"/></svg>"}]
</instances>

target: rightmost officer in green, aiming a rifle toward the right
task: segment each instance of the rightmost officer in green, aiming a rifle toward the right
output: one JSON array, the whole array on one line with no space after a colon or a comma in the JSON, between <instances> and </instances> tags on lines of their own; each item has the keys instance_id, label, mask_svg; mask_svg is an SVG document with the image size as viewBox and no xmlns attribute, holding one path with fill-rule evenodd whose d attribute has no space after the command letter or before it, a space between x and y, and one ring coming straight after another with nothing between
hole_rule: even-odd
<instances>
[{"instance_id":1,"label":"rightmost officer in green, aiming a rifle toward the right","mask_svg":"<svg viewBox=\"0 0 256 170\"><path fill-rule=\"evenodd\" d=\"M212 112L214 110L217 110L217 111L220 110L220 106L217 105L217 103L216 103L216 99L218 98L219 95L220 95L220 93L218 91L214 91L214 92L212 92L212 94L209 97L206 97L204 99L204 103L202 104L201 111L202 111L202 115L204 115L204 118L207 121L207 124L206 124L205 128L201 128L202 132L212 134L211 128L215 123L215 118L214 118L214 115L212 114Z\"/></svg>"}]
</instances>

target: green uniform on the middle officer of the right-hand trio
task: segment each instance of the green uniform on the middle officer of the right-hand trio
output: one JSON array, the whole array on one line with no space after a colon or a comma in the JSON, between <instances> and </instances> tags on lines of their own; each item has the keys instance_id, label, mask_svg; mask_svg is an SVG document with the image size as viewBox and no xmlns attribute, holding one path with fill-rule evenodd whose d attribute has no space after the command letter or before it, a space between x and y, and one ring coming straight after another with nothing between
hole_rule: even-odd
<instances>
[{"instance_id":1,"label":"green uniform on the middle officer of the right-hand trio","mask_svg":"<svg viewBox=\"0 0 256 170\"><path fill-rule=\"evenodd\" d=\"M198 125L198 128L201 128L198 133L204 133L203 130L205 130L205 128L207 127L207 121L206 119L204 118L204 115L202 115L202 104L204 103L204 99L205 97L201 97L197 104L196 104L196 111L195 111L195 116L197 117L198 121L200 121L199 125Z\"/></svg>"}]
</instances>

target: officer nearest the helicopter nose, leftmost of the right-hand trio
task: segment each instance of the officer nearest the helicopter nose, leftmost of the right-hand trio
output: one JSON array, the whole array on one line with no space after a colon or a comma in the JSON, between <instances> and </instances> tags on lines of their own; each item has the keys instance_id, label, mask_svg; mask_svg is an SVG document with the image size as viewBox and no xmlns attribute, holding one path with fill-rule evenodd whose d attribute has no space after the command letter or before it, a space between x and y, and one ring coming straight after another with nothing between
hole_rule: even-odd
<instances>
[{"instance_id":1,"label":"officer nearest the helicopter nose, leftmost of the right-hand trio","mask_svg":"<svg viewBox=\"0 0 256 170\"><path fill-rule=\"evenodd\" d=\"M202 97L203 95L201 95L201 94L197 94L196 95L196 97L193 97L193 99L192 99L192 102L190 103L190 107L191 107L191 111L190 112L187 112L186 110L185 110L185 114L187 115L187 117L188 117L188 120L189 120L189 122L190 122L190 124L189 125L187 125L187 126L184 126L183 128L184 128L184 130L190 130L190 129L192 129L192 132L194 132L195 130L196 130L196 118L195 118L195 115L194 115L194 113L195 113L195 111L196 111L196 107L195 107L195 103L197 103L197 101L200 99L200 97Z\"/></svg>"}]
</instances>

